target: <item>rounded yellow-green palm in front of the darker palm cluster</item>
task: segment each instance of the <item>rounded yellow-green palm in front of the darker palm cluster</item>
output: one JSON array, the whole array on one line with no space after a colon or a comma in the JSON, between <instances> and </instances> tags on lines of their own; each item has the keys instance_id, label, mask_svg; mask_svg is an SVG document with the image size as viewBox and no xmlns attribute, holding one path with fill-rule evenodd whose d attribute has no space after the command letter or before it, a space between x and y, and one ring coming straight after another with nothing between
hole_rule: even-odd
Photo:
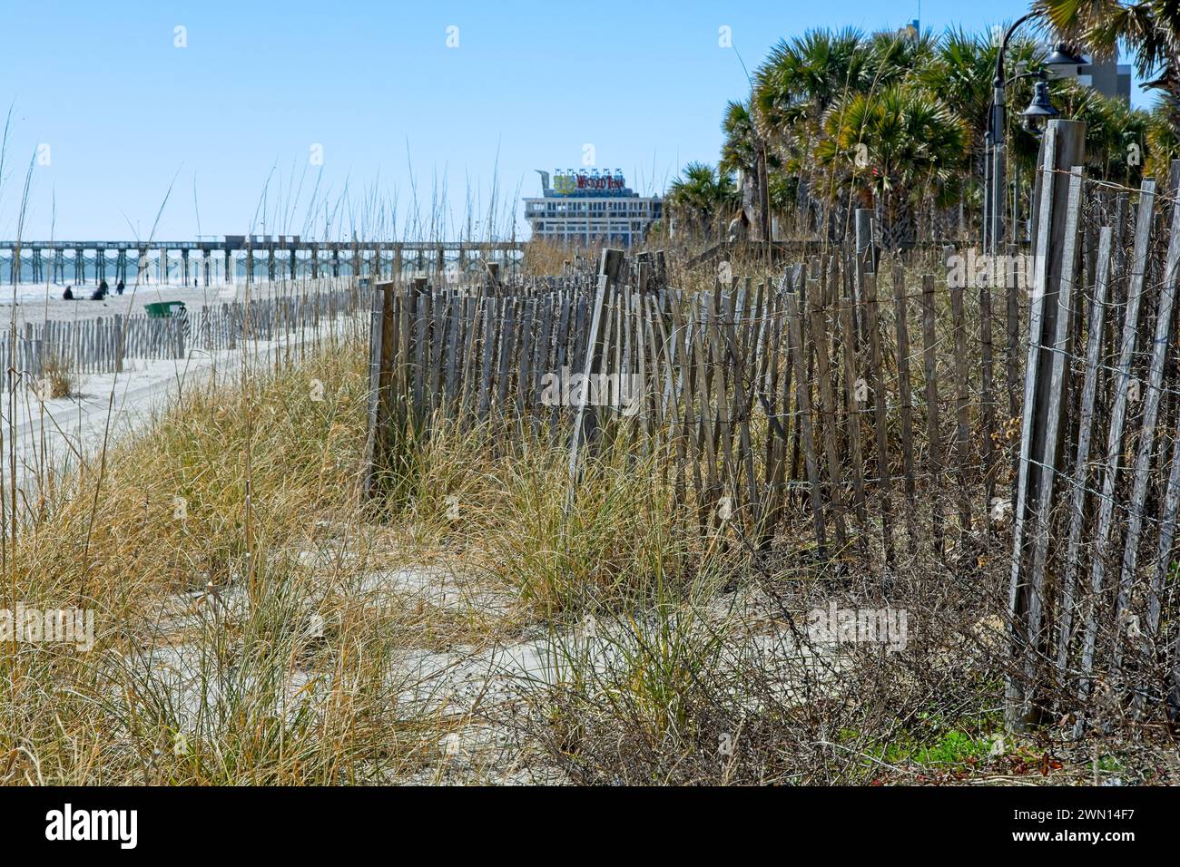
<instances>
[{"instance_id":1,"label":"rounded yellow-green palm in front of the darker palm cluster","mask_svg":"<svg viewBox=\"0 0 1180 867\"><path fill-rule=\"evenodd\" d=\"M815 153L833 186L877 209L892 248L912 237L919 201L945 206L957 199L966 138L963 121L937 97L898 84L833 105Z\"/></svg>"}]
</instances>

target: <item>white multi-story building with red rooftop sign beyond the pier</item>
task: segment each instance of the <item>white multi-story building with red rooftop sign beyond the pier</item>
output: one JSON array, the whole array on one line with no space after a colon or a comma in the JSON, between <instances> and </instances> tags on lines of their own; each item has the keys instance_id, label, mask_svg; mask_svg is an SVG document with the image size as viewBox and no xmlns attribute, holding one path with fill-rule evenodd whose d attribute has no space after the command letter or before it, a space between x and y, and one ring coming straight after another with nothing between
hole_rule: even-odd
<instances>
[{"instance_id":1,"label":"white multi-story building with red rooftop sign beyond the pier","mask_svg":"<svg viewBox=\"0 0 1180 867\"><path fill-rule=\"evenodd\" d=\"M623 172L597 169L548 171L540 175L542 197L525 198L524 216L535 238L590 245L595 241L630 247L643 241L663 214L658 196L640 196L627 186Z\"/></svg>"}]
</instances>

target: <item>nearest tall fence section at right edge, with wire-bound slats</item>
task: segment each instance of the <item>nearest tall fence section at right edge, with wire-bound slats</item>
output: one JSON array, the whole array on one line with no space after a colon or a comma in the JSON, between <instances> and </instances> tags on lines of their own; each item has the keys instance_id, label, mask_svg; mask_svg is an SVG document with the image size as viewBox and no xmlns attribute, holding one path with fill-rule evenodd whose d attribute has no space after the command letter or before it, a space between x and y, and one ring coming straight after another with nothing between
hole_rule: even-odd
<instances>
[{"instance_id":1,"label":"nearest tall fence section at right edge, with wire-bound slats","mask_svg":"<svg viewBox=\"0 0 1180 867\"><path fill-rule=\"evenodd\" d=\"M1079 733L1180 709L1178 189L1112 197L1083 136L1055 121L1042 150L1008 684L1011 727Z\"/></svg>"}]
</instances>

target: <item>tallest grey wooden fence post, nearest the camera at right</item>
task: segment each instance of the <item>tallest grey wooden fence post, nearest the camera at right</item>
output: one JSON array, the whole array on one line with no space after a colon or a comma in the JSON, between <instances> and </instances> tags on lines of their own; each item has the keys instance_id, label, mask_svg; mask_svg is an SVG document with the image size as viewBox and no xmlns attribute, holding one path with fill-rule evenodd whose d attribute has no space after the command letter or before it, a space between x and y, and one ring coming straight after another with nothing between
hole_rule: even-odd
<instances>
[{"instance_id":1,"label":"tallest grey wooden fence post, nearest the camera at right","mask_svg":"<svg viewBox=\"0 0 1180 867\"><path fill-rule=\"evenodd\" d=\"M1009 586L1011 665L1005 683L1004 721L1023 731L1041 720L1043 678L1040 659L1047 657L1049 624L1044 602L1047 578L1042 537L1049 532L1049 498L1057 472L1057 442L1068 408L1063 350L1069 342L1073 304L1070 283L1080 250L1076 238L1081 176L1073 172L1086 160L1086 124L1051 120L1037 169L1037 212L1034 235L1034 285L1029 317L1029 350L1024 374L1024 416L1017 465L1012 525L1012 571ZM1070 195L1073 192L1073 196ZM1074 237L1070 237L1071 226ZM1037 566L1041 566L1038 569Z\"/></svg>"}]
</instances>

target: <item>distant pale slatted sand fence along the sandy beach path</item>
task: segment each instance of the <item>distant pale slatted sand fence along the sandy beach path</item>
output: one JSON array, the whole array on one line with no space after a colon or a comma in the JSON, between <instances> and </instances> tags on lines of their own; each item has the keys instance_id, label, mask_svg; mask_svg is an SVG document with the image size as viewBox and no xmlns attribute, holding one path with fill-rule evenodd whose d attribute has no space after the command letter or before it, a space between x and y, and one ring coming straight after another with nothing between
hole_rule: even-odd
<instances>
[{"instance_id":1,"label":"distant pale slatted sand fence along the sandy beach path","mask_svg":"<svg viewBox=\"0 0 1180 867\"><path fill-rule=\"evenodd\" d=\"M26 322L0 331L5 387L35 382L50 367L78 374L123 370L129 360L184 359L191 352L236 349L243 341L319 336L324 323L367 309L368 289L332 281L288 295L206 306L186 316L144 314Z\"/></svg>"}]
</instances>

